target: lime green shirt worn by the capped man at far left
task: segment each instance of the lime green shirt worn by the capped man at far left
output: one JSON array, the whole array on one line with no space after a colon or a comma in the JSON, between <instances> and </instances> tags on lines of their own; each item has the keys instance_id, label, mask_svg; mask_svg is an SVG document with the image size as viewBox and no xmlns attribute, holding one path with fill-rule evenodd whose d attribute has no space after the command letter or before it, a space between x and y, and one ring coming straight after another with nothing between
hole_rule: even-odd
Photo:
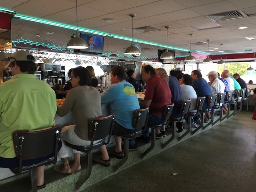
<instances>
[{"instance_id":1,"label":"lime green shirt worn by the capped man at far left","mask_svg":"<svg viewBox=\"0 0 256 192\"><path fill-rule=\"evenodd\" d=\"M33 74L16 74L0 84L0 156L14 158L12 134L54 125L56 94Z\"/></svg>"}]
</instances>

